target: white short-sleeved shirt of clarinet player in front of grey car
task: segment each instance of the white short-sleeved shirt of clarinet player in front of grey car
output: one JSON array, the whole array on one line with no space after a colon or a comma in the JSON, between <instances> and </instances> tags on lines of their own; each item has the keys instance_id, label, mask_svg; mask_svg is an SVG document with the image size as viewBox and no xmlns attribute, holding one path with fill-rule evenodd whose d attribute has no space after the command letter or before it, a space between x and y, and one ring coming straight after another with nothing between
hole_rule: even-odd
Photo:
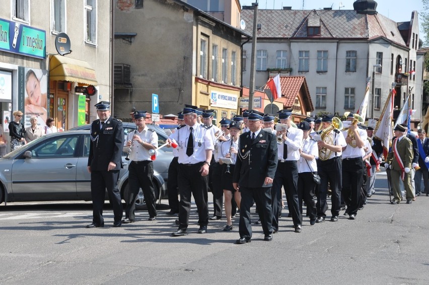
<instances>
[{"instance_id":1,"label":"white short-sleeved shirt of clarinet player in front of grey car","mask_svg":"<svg viewBox=\"0 0 429 285\"><path fill-rule=\"evenodd\" d=\"M155 130L149 130L148 126L139 132L138 129L135 130L135 134L138 135L142 141L148 142L155 148L158 148L158 134ZM149 155L149 150L147 150L144 146L140 145L137 141L132 140L134 136L134 131L130 131L127 135L127 139L124 144L124 151L129 151L129 148L126 147L128 140L132 141L132 145L130 147L131 154L129 155L130 161L152 161L151 156Z\"/></svg>"}]
</instances>

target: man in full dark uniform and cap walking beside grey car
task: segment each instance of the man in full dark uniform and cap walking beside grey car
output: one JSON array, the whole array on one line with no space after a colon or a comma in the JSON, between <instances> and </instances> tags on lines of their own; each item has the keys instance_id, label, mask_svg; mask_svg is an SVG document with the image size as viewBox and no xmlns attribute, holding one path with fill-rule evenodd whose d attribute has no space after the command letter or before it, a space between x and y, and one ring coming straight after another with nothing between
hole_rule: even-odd
<instances>
[{"instance_id":1,"label":"man in full dark uniform and cap walking beside grey car","mask_svg":"<svg viewBox=\"0 0 429 285\"><path fill-rule=\"evenodd\" d=\"M104 227L103 205L107 193L113 206L113 227L122 220L121 194L118 189L119 170L122 167L124 131L122 122L110 116L110 102L95 105L99 119L91 124L88 171L91 173L92 224L87 228Z\"/></svg>"}]
</instances>

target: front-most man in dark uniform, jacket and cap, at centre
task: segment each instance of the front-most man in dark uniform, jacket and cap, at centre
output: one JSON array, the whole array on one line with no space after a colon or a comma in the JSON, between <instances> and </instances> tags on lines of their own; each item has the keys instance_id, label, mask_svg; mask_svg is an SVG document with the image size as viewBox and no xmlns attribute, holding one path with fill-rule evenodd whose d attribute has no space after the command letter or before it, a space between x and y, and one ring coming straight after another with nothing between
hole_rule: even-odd
<instances>
[{"instance_id":1,"label":"front-most man in dark uniform, jacket and cap, at centre","mask_svg":"<svg viewBox=\"0 0 429 285\"><path fill-rule=\"evenodd\" d=\"M261 128L263 115L251 110L248 117L250 130L240 135L239 156L233 174L234 189L241 193L237 244L251 241L250 207L253 200L258 207L264 240L272 240L271 186L277 168L277 142L275 135Z\"/></svg>"}]
</instances>

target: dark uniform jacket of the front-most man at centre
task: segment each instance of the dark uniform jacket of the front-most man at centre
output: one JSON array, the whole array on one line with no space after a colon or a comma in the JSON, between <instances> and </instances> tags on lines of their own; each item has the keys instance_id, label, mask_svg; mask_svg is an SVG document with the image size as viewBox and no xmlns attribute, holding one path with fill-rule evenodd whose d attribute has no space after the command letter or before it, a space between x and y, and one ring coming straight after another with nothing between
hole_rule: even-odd
<instances>
[{"instance_id":1,"label":"dark uniform jacket of the front-most man at centre","mask_svg":"<svg viewBox=\"0 0 429 285\"><path fill-rule=\"evenodd\" d=\"M260 188L271 187L264 185L265 177L274 178L277 168L277 140L271 132L263 129L252 142L250 131L240 135L240 152L234 169L233 182L240 187ZM249 157L242 158L250 151Z\"/></svg>"}]
</instances>

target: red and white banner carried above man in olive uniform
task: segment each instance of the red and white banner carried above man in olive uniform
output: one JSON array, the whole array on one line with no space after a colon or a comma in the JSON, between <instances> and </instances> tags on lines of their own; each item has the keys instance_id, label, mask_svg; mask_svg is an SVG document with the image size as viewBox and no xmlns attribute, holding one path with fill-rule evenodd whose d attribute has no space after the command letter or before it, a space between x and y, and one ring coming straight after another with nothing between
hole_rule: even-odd
<instances>
[{"instance_id":1,"label":"red and white banner carried above man in olive uniform","mask_svg":"<svg viewBox=\"0 0 429 285\"><path fill-rule=\"evenodd\" d=\"M384 105L380 119L378 120L374 130L374 136L383 141L383 155L385 159L389 153L390 144L393 138L392 116L395 94L396 91L393 87L389 92L386 104Z\"/></svg>"}]
</instances>

